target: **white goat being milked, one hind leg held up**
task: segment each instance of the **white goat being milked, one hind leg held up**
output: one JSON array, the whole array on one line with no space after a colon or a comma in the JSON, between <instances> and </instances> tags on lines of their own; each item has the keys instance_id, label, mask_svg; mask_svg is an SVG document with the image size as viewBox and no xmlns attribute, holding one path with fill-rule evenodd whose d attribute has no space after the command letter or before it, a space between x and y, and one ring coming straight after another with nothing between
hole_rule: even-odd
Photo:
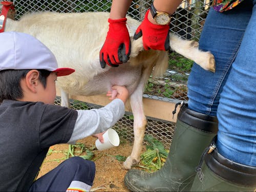
<instances>
[{"instance_id":1,"label":"white goat being milked, one hind leg held up","mask_svg":"<svg viewBox=\"0 0 256 192\"><path fill-rule=\"evenodd\" d=\"M152 72L155 76L165 72L168 54L166 51L144 51L142 39L134 41L132 38L140 22L128 17L127 28L132 40L130 60L118 68L106 65L102 69L99 51L108 32L108 18L109 13L106 12L31 13L23 16L20 21L7 19L5 31L18 31L35 36L54 53L59 67L76 70L72 75L58 78L63 106L69 106L69 94L105 94L114 84L127 87L131 94L135 138L132 153L123 165L125 169L130 169L140 160L146 126L142 103L144 84ZM200 51L197 42L182 40L171 34L170 47L194 60L205 70L215 71L214 56Z\"/></svg>"}]
</instances>

